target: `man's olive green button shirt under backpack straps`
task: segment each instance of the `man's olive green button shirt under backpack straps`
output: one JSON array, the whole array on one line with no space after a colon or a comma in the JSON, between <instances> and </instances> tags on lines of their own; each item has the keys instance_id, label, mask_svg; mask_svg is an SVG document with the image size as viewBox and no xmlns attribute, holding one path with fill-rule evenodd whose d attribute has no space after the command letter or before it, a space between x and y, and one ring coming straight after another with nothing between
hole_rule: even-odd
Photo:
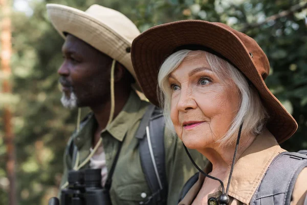
<instances>
[{"instance_id":1,"label":"man's olive green button shirt under backpack straps","mask_svg":"<svg viewBox=\"0 0 307 205\"><path fill-rule=\"evenodd\" d=\"M147 197L151 195L141 167L139 139L135 137L140 120L148 105L149 103L141 100L134 91L131 91L123 110L101 133L108 171L111 169L119 144L122 143L110 189L113 205L139 204L140 201L146 201ZM71 140L74 140L74 144L78 148L79 165L90 154L92 138L96 128L97 121L94 115L90 114L81 123L80 131L74 133L69 140L69 144ZM172 205L178 203L179 194L184 183L197 170L193 167L185 153L181 140L176 136L168 134L168 131L165 131L164 134L164 146L168 182L167 204ZM203 159L203 156L195 150L190 152L195 162L201 168L204 168L206 161ZM67 147L64 154L64 174L61 185L67 181L68 170L74 167L73 163L69 154L69 147ZM89 163L83 168L89 168Z\"/></svg>"}]
</instances>

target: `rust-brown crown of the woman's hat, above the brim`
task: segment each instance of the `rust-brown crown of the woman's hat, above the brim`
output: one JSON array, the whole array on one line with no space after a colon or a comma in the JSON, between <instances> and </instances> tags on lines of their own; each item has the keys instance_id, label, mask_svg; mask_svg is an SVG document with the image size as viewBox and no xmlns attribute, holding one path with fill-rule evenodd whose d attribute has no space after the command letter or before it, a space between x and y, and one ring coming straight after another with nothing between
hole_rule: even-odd
<instances>
[{"instance_id":1,"label":"rust-brown crown of the woman's hat, above the brim","mask_svg":"<svg viewBox=\"0 0 307 205\"><path fill-rule=\"evenodd\" d=\"M246 47L248 52L251 54L251 58L254 61L255 67L257 71L262 76L262 79L266 79L270 73L270 63L267 55L265 52L260 48L257 42L251 38L250 36L246 35L245 33L239 32L223 23L215 23L220 25L231 32L233 32L243 43Z\"/></svg>"}]
</instances>

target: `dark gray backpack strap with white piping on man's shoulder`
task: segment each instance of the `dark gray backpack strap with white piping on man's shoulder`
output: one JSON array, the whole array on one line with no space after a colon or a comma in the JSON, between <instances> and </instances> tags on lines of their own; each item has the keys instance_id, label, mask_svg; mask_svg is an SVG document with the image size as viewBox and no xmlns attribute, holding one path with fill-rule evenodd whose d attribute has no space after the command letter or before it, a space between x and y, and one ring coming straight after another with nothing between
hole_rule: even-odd
<instances>
[{"instance_id":1,"label":"dark gray backpack strap with white piping on man's shoulder","mask_svg":"<svg viewBox=\"0 0 307 205\"><path fill-rule=\"evenodd\" d=\"M164 124L161 110L150 105L136 133L143 173L152 193L140 204L162 205L167 201Z\"/></svg>"}]
</instances>

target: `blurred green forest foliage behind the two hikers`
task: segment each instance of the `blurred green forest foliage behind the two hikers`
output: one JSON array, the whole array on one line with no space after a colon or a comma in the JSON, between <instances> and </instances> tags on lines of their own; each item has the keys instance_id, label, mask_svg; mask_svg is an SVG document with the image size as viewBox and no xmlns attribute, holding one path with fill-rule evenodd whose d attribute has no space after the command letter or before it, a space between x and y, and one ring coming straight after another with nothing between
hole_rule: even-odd
<instances>
[{"instance_id":1,"label":"blurred green forest foliage behind the two hikers","mask_svg":"<svg viewBox=\"0 0 307 205\"><path fill-rule=\"evenodd\" d=\"M19 204L47 204L55 196L62 171L63 150L75 129L76 110L63 109L58 75L63 39L52 28L47 3L85 10L96 3L127 15L141 31L182 19L227 23L254 37L268 55L272 74L266 82L292 112L299 129L282 146L307 149L307 29L306 10L286 17L265 18L306 1L129 0L32 1L33 14L13 12L13 95L0 96L0 108L10 103L14 111L17 198ZM234 51L235 52L235 51ZM3 79L0 73L0 81ZM84 111L85 113L86 111ZM0 114L3 114L0 112ZM3 136L0 118L0 135ZM8 204L5 146L0 138L0 204Z\"/></svg>"}]
</instances>

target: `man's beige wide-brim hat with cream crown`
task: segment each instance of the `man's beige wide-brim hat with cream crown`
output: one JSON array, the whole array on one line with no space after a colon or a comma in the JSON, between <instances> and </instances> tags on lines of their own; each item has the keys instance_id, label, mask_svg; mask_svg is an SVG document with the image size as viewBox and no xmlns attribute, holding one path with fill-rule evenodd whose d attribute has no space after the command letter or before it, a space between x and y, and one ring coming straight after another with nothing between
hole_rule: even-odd
<instances>
[{"instance_id":1,"label":"man's beige wide-brim hat with cream crown","mask_svg":"<svg viewBox=\"0 0 307 205\"><path fill-rule=\"evenodd\" d=\"M140 34L124 14L99 5L85 12L59 4L47 4L54 28L65 39L72 34L124 65L136 78L130 57L131 43Z\"/></svg>"}]
</instances>

